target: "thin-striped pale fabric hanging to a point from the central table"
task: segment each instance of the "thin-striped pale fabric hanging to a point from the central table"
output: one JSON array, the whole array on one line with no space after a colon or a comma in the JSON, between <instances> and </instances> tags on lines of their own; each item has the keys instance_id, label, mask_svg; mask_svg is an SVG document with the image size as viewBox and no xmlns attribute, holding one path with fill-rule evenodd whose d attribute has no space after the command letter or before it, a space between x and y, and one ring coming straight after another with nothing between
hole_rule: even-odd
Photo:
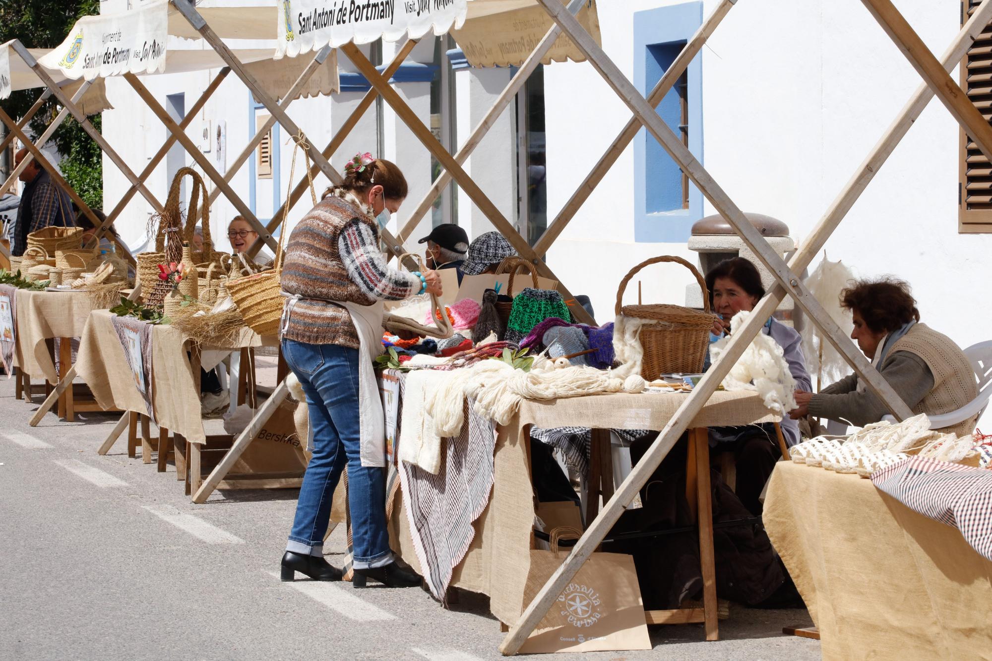
<instances>
[{"instance_id":1,"label":"thin-striped pale fabric hanging to a point from the central table","mask_svg":"<svg viewBox=\"0 0 992 661\"><path fill-rule=\"evenodd\" d=\"M400 425L405 386L406 379L401 376ZM443 465L436 475L406 462L398 466L407 521L424 581L442 602L452 571L468 553L475 537L472 523L489 504L495 478L496 428L468 404L465 409L467 422L458 438L442 442ZM400 438L399 430L396 438Z\"/></svg>"}]
</instances>

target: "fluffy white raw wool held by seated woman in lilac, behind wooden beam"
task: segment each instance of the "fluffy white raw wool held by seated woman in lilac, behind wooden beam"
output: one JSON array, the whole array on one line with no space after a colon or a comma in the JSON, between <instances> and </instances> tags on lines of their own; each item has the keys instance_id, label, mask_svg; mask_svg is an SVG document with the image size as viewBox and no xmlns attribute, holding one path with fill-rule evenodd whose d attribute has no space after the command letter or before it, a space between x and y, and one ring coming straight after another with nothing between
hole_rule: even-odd
<instances>
[{"instance_id":1,"label":"fluffy white raw wool held by seated woman in lilac, behind wooden beam","mask_svg":"<svg viewBox=\"0 0 992 661\"><path fill-rule=\"evenodd\" d=\"M742 311L730 320L730 331L737 330L751 313ZM710 356L715 363L723 354L729 337L719 339L709 345ZM757 390L765 406L781 415L797 408L796 379L789 371L784 352L779 343L764 332L751 340L737 363L731 367L723 379L727 390Z\"/></svg>"}]
</instances>

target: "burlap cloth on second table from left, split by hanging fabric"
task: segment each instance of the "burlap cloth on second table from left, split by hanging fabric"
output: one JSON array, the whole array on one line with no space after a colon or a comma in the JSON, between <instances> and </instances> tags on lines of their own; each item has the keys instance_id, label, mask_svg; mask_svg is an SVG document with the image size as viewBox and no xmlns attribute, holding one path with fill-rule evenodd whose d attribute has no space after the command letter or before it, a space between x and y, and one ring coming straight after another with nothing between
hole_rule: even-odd
<instances>
[{"instance_id":1,"label":"burlap cloth on second table from left, split by hanging fabric","mask_svg":"<svg viewBox=\"0 0 992 661\"><path fill-rule=\"evenodd\" d=\"M107 310L94 310L79 339L76 373L93 391L104 409L117 408L147 415L145 402L134 385L124 349ZM244 329L229 347L260 346L263 338ZM199 392L186 353L191 340L168 325L156 326L152 335L152 392L156 421L190 443L206 442L200 417Z\"/></svg>"}]
</instances>

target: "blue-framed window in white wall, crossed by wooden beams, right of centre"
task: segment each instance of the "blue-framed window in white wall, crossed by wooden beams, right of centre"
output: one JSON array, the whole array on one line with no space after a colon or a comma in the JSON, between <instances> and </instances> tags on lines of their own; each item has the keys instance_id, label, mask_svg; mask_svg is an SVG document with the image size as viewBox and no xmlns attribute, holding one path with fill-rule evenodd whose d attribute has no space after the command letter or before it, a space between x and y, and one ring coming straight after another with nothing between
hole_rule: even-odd
<instances>
[{"instance_id":1,"label":"blue-framed window in white wall, crossed by wooden beams, right of centre","mask_svg":"<svg viewBox=\"0 0 992 661\"><path fill-rule=\"evenodd\" d=\"M701 2L634 13L634 83L642 94L651 92L701 25ZM687 133L689 152L702 162L701 56L692 60L681 82L662 99L658 114L676 135ZM689 183L684 203L679 166L645 129L634 140L634 195L638 242L681 243L702 217L702 194Z\"/></svg>"}]
</instances>

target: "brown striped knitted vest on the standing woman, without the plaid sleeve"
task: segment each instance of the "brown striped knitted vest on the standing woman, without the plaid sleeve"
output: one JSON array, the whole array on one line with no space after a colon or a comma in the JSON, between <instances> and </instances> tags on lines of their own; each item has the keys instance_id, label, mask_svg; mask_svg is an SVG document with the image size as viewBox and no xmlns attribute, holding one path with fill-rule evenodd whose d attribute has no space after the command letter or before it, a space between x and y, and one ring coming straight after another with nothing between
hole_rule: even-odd
<instances>
[{"instance_id":1,"label":"brown striped knitted vest on the standing woman, without the plaid sleeve","mask_svg":"<svg viewBox=\"0 0 992 661\"><path fill-rule=\"evenodd\" d=\"M290 234L280 283L283 291L303 299L293 307L284 338L359 348L351 315L330 303L375 303L351 281L337 250L341 230L356 217L378 234L374 220L353 204L331 196L310 209Z\"/></svg>"}]
</instances>

